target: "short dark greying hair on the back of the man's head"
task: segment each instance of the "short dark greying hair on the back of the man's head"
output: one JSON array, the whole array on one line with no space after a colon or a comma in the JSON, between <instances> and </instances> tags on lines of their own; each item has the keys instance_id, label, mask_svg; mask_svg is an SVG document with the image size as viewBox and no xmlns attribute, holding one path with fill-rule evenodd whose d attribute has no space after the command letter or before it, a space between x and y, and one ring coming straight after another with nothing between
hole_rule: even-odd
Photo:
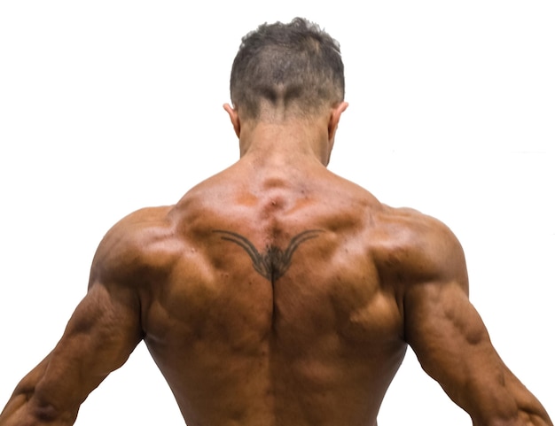
<instances>
[{"instance_id":1,"label":"short dark greying hair on the back of the man's head","mask_svg":"<svg viewBox=\"0 0 555 426\"><path fill-rule=\"evenodd\" d=\"M302 115L338 104L345 95L340 44L307 19L262 24L242 39L230 89L235 108L251 119L262 100L295 105Z\"/></svg>"}]
</instances>

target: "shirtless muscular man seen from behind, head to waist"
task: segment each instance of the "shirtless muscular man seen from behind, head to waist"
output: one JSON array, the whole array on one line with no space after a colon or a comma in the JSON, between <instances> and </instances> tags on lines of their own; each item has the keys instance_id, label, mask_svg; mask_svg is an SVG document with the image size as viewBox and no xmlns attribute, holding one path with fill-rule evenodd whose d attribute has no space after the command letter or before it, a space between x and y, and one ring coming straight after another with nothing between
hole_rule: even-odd
<instances>
[{"instance_id":1,"label":"shirtless muscular man seen from behind, head to waist","mask_svg":"<svg viewBox=\"0 0 555 426\"><path fill-rule=\"evenodd\" d=\"M343 95L317 26L247 35L224 105L241 159L106 234L0 425L73 424L141 340L188 426L375 425L407 345L473 424L552 425L492 347L449 228L326 169Z\"/></svg>"}]
</instances>

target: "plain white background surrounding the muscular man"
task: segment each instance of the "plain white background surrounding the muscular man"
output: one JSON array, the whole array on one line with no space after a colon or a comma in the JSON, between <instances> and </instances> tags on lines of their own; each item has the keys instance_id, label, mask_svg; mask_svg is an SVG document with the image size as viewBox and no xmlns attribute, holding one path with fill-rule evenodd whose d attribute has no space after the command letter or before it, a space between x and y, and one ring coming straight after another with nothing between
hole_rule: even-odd
<instances>
[{"instance_id":1,"label":"plain white background surrounding the muscular man","mask_svg":"<svg viewBox=\"0 0 555 426\"><path fill-rule=\"evenodd\" d=\"M366 3L366 4L364 4ZM100 238L238 158L240 37L304 16L337 38L330 168L445 221L498 352L555 416L551 1L0 3L0 406L57 342ZM470 425L411 352L380 426ZM78 425L183 424L144 345Z\"/></svg>"}]
</instances>

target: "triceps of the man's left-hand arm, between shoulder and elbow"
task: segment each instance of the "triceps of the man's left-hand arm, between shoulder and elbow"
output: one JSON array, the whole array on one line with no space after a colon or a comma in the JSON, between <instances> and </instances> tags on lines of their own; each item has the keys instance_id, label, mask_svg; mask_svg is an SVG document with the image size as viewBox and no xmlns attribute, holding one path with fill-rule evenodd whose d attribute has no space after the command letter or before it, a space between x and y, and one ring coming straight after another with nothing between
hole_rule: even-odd
<instances>
[{"instance_id":1,"label":"triceps of the man's left-hand arm, between shoulder and elbow","mask_svg":"<svg viewBox=\"0 0 555 426\"><path fill-rule=\"evenodd\" d=\"M56 413L75 413L142 337L138 302L122 290L93 284L47 358L34 396Z\"/></svg>"}]
</instances>

